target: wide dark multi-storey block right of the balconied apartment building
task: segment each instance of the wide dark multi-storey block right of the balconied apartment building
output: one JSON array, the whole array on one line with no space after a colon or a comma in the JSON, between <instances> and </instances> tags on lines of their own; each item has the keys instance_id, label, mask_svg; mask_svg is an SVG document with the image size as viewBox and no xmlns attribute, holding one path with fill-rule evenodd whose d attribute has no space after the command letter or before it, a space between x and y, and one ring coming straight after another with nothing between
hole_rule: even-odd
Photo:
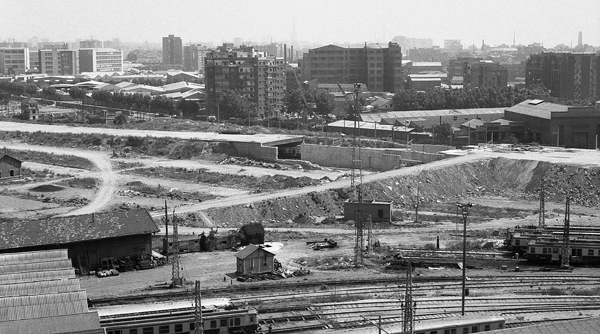
<instances>
[{"instance_id":1,"label":"wide dark multi-storey block right of the balconied apartment building","mask_svg":"<svg viewBox=\"0 0 600 334\"><path fill-rule=\"evenodd\" d=\"M319 83L363 83L371 91L396 92L402 87L402 50L397 43L310 49L302 59L303 80Z\"/></svg>"}]
</instances>

